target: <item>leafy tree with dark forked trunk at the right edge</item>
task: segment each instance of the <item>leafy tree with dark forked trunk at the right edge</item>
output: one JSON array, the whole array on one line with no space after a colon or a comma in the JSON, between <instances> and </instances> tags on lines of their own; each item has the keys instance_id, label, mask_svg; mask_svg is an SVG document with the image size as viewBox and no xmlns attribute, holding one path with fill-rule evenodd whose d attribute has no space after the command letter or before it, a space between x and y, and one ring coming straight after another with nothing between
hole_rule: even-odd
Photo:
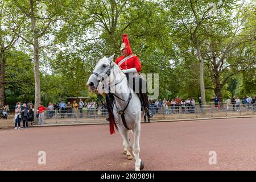
<instances>
[{"instance_id":1,"label":"leafy tree with dark forked trunk at the right edge","mask_svg":"<svg viewBox=\"0 0 256 182\"><path fill-rule=\"evenodd\" d=\"M256 61L251 44L255 45L255 19L253 6L243 2L235 6L236 15L227 14L222 19L209 22L208 39L203 42L205 60L210 63L210 76L214 93L222 101L221 89L229 78L252 67Z\"/></svg>"}]
</instances>

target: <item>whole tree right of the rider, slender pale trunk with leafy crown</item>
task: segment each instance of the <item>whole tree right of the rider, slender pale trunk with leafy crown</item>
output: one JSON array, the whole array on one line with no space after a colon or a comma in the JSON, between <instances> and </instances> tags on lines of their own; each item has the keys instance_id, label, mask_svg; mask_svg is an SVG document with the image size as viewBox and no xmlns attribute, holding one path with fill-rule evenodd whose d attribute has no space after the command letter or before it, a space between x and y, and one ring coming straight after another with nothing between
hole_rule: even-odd
<instances>
[{"instance_id":1,"label":"whole tree right of the rider, slender pale trunk with leafy crown","mask_svg":"<svg viewBox=\"0 0 256 182\"><path fill-rule=\"evenodd\" d=\"M170 9L170 27L176 31L176 36L185 38L190 49L196 49L200 71L200 93L202 105L205 105L203 43L207 40L208 28L205 25L214 19L214 13L226 13L232 6L232 1L164 1ZM220 18L221 17L220 13Z\"/></svg>"}]
</instances>

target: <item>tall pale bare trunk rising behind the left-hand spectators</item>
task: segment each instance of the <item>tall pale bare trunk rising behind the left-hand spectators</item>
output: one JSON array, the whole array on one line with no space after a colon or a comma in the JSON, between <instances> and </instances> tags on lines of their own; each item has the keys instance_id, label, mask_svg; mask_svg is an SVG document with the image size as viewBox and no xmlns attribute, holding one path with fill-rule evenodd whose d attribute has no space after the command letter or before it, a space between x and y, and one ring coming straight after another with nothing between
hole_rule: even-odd
<instances>
[{"instance_id":1,"label":"tall pale bare trunk rising behind the left-hand spectators","mask_svg":"<svg viewBox=\"0 0 256 182\"><path fill-rule=\"evenodd\" d=\"M33 1L30 0L30 18L31 18L31 28L34 36L34 77L35 77L35 110L38 109L38 105L41 102L41 86L40 86L40 74L39 74L39 43L38 43L38 32L36 30L35 24L35 14ZM34 119L36 114L34 114Z\"/></svg>"}]
</instances>

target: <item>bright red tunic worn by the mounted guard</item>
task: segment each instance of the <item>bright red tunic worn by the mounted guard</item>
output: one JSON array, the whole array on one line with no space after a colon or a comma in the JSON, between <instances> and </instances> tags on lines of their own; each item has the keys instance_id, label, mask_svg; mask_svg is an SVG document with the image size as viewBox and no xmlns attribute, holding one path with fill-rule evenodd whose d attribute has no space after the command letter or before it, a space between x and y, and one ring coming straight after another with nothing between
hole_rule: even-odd
<instances>
[{"instance_id":1,"label":"bright red tunic worn by the mounted guard","mask_svg":"<svg viewBox=\"0 0 256 182\"><path fill-rule=\"evenodd\" d=\"M120 61L125 59L124 56L117 57L117 60L115 60L115 64L118 64ZM136 68L137 72L141 72L141 61L139 61L138 56L133 56L130 59L127 59L125 62L123 62L120 65L121 69L130 69L130 68Z\"/></svg>"}]
</instances>

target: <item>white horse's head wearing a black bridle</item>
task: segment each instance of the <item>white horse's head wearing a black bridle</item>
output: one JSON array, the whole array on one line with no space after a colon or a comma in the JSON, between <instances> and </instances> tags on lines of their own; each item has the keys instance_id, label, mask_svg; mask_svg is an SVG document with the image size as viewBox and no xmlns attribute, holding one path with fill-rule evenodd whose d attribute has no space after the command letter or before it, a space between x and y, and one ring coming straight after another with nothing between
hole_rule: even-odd
<instances>
[{"instance_id":1,"label":"white horse's head wearing a black bridle","mask_svg":"<svg viewBox=\"0 0 256 182\"><path fill-rule=\"evenodd\" d=\"M89 80L86 83L89 90L95 92L98 84L110 76L111 70L114 67L114 63L112 62L113 59L114 55L110 56L109 58L103 57L98 61L92 75L90 75Z\"/></svg>"}]
</instances>

